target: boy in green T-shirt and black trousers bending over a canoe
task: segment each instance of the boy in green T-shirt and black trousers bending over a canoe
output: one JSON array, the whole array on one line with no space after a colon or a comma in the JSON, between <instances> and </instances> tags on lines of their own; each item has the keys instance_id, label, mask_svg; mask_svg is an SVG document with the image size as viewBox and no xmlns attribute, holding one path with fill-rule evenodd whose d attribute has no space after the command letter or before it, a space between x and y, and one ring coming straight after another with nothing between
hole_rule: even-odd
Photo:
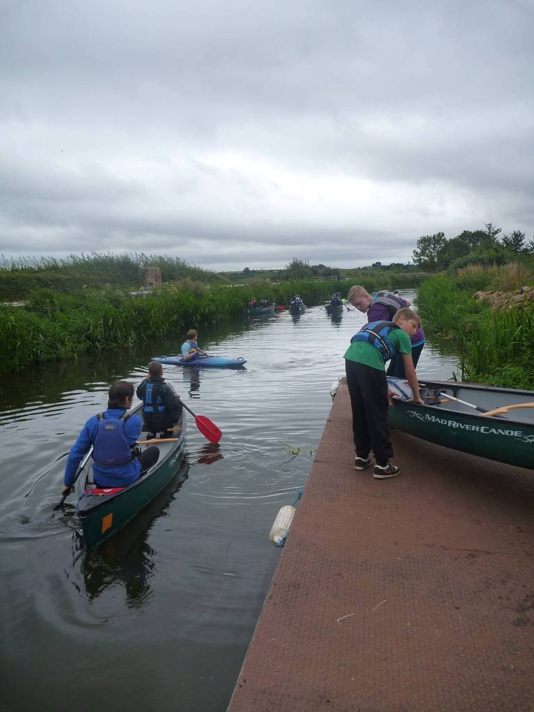
<instances>
[{"instance_id":1,"label":"boy in green T-shirt and black trousers bending over a canoe","mask_svg":"<svg viewBox=\"0 0 534 712\"><path fill-rule=\"evenodd\" d=\"M389 403L385 363L395 354L402 355L413 401L422 403L417 374L412 362L409 337L421 324L409 308L399 309L392 321L371 322L362 326L350 340L345 352L345 372L352 407L352 432L356 448L355 470L365 470L375 454L373 477L386 479L399 474L389 462L393 448L389 439Z\"/></svg>"}]
</instances>

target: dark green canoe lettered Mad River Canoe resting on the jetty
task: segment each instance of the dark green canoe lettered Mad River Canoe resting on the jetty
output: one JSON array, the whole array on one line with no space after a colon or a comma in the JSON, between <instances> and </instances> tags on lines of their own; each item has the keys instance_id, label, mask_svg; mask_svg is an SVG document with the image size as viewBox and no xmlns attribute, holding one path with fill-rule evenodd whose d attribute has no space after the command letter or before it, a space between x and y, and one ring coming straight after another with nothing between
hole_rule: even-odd
<instances>
[{"instance_id":1,"label":"dark green canoe lettered Mad River Canoe resting on the jetty","mask_svg":"<svg viewBox=\"0 0 534 712\"><path fill-rule=\"evenodd\" d=\"M387 381L399 393L389 407L392 427L454 450L534 469L534 391L424 381L419 388L425 404L418 405L407 401L412 391L406 381ZM496 410L501 412L492 414Z\"/></svg>"}]
</instances>

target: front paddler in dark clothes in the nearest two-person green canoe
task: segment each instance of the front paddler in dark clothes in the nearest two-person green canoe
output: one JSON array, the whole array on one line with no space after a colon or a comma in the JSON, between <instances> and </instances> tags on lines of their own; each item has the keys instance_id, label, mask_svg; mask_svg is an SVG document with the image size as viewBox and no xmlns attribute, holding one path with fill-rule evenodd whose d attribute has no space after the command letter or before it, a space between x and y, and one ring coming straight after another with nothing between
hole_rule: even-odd
<instances>
[{"instance_id":1,"label":"front paddler in dark clothes in the nearest two-person green canoe","mask_svg":"<svg viewBox=\"0 0 534 712\"><path fill-rule=\"evenodd\" d=\"M172 386L165 383L163 366L159 361L151 361L148 375L137 386L137 398L143 402L143 419L147 438L150 440L159 433L160 438L172 437L172 428L182 413L182 402Z\"/></svg>"}]
</instances>

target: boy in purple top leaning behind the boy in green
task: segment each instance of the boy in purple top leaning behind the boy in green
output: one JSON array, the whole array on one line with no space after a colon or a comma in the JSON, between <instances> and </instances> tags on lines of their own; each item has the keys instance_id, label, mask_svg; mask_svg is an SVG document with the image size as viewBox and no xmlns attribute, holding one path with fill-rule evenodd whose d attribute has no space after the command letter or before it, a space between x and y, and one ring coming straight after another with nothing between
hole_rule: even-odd
<instances>
[{"instance_id":1,"label":"boy in purple top leaning behind the boy in green","mask_svg":"<svg viewBox=\"0 0 534 712\"><path fill-rule=\"evenodd\" d=\"M364 287L358 285L350 288L347 300L361 312L367 313L367 321L391 321L397 310L412 305L409 299L399 297L397 292L382 290L370 295ZM424 331L420 324L416 333L410 337L410 342L412 343L412 362L414 368L417 368L419 356L425 343ZM406 378L404 361L400 354L392 358L386 374L394 378Z\"/></svg>"}]
</instances>

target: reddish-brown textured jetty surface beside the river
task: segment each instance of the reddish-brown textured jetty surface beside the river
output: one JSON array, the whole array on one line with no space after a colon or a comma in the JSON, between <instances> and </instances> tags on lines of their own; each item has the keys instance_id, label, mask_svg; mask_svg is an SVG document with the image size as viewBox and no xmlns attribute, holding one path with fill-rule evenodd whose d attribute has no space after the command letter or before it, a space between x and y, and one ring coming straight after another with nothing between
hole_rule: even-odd
<instances>
[{"instance_id":1,"label":"reddish-brown textured jetty surface beside the river","mask_svg":"<svg viewBox=\"0 0 534 712\"><path fill-rule=\"evenodd\" d=\"M392 436L340 387L229 712L534 711L534 472Z\"/></svg>"}]
</instances>

